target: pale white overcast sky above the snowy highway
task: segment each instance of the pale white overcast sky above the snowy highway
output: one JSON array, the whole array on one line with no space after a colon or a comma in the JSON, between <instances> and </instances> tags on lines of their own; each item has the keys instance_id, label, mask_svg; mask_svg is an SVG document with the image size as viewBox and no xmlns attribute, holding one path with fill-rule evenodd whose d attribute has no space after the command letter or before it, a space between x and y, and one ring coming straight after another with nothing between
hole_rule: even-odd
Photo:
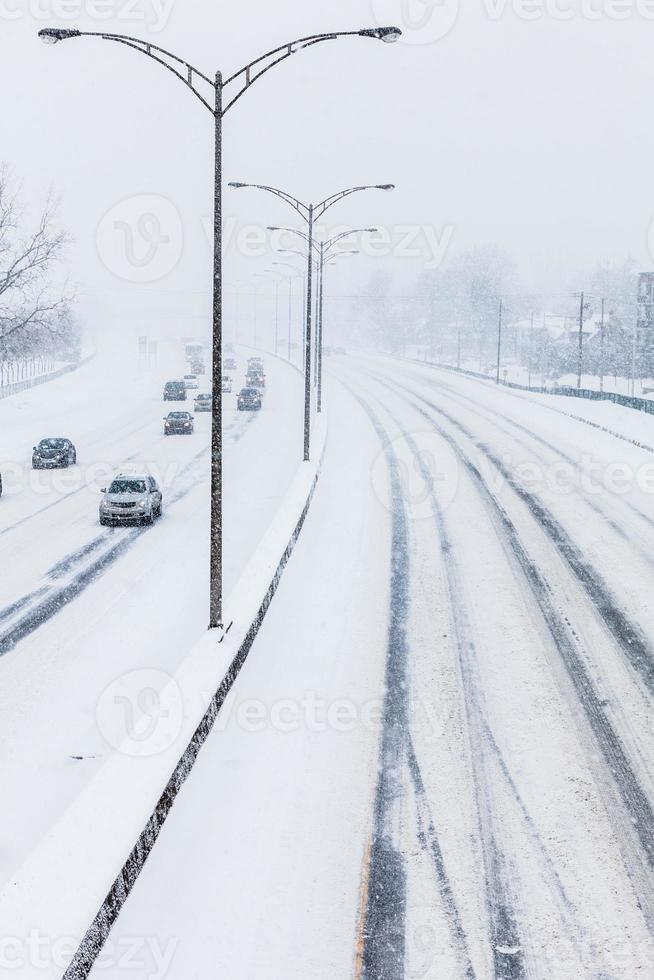
<instances>
[{"instance_id":1,"label":"pale white overcast sky above the snowy highway","mask_svg":"<svg viewBox=\"0 0 654 980\"><path fill-rule=\"evenodd\" d=\"M246 93L225 122L227 180L307 200L392 181L393 194L361 194L335 208L334 223L375 224L396 243L404 226L428 226L431 240L451 234L450 249L497 241L534 288L564 278L567 286L571 270L581 277L597 260L629 253L652 266L651 0L466 0L460 9L452 0L0 0L0 156L30 201L50 187L60 197L86 316L154 310L162 291L172 294L169 312L205 309L212 120L147 58L87 39L48 48L36 31L134 34L212 74L304 34L376 23L397 24L405 39L317 46ZM133 224L138 258L148 248L139 213L157 208L177 252L172 268L164 249L160 278L130 282L149 273L116 274L115 223ZM225 210L228 230L241 233L293 220L255 191L228 191ZM422 259L342 260L333 288L353 289L383 263L417 271L430 247L423 235ZM232 239L230 288L251 282L271 258L246 258Z\"/></svg>"}]
</instances>

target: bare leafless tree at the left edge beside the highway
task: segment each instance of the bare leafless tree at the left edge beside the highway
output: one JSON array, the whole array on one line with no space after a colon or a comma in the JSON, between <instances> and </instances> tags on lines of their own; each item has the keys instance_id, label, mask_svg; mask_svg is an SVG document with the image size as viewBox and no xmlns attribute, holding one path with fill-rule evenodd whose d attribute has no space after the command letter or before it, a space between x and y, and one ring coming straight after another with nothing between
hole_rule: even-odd
<instances>
[{"instance_id":1,"label":"bare leafless tree at the left edge beside the highway","mask_svg":"<svg viewBox=\"0 0 654 980\"><path fill-rule=\"evenodd\" d=\"M79 358L71 295L61 283L67 237L52 199L32 227L0 168L0 386Z\"/></svg>"}]
</instances>

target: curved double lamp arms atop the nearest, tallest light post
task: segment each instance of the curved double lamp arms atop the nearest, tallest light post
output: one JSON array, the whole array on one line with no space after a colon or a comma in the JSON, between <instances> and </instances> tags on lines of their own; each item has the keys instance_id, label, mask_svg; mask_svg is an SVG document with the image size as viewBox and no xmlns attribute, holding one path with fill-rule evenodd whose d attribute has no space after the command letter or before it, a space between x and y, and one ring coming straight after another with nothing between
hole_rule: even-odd
<instances>
[{"instance_id":1,"label":"curved double lamp arms atop the nearest, tallest light post","mask_svg":"<svg viewBox=\"0 0 654 980\"><path fill-rule=\"evenodd\" d=\"M291 41L287 44L282 44L278 48L274 48L272 51L268 51L266 54L261 55L259 58L255 58L249 64L240 68L233 75L230 75L224 82L221 80L221 76L217 75L216 80L212 81L203 72L198 71L194 68L188 61L184 61L183 58L179 58L177 55L172 54L170 51L166 51L165 48L160 48L156 44L151 44L148 41L142 41L139 38L131 37L128 34L111 34L105 31L78 31L71 30L63 27L45 27L39 31L39 37L49 43L56 44L57 41L65 41L68 38L73 37L99 37L104 41L115 41L118 44L125 44L129 48L133 48L135 51L140 51L141 54L147 55L152 58L153 61L158 62L168 71L176 75L185 85L187 85L193 94L197 96L200 102L213 113L213 115L220 115L221 117L231 109L235 102L237 102L244 92L250 88L258 78L265 75L266 72L274 68L275 65L279 65L282 61L286 61L291 55L296 54L298 51L304 50L304 48L311 47L314 44L320 44L322 41L334 41L339 37L371 37L378 41L392 42L397 41L401 36L402 31L399 27L370 27L364 28L360 31L335 31L332 34L313 34L309 37L298 38L296 41ZM169 64L168 61L164 59L169 59L173 64ZM176 67L179 66L179 67ZM183 68L184 71L180 71L179 68ZM232 82L237 82L241 80L241 88L234 95L234 97L223 105L222 99L220 100L220 108L216 104L213 106L205 99L202 93L194 85L194 76L202 79L206 82L214 91L214 97L217 94L218 88L220 88L221 93L228 85Z\"/></svg>"}]
</instances>

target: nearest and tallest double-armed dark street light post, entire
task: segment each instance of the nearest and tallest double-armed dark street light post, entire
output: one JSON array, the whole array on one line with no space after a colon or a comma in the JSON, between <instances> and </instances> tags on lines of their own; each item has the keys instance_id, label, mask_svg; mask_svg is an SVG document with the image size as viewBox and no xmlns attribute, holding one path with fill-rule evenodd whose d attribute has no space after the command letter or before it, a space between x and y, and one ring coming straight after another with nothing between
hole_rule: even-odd
<instances>
[{"instance_id":1,"label":"nearest and tallest double-armed dark street light post, entire","mask_svg":"<svg viewBox=\"0 0 654 980\"><path fill-rule=\"evenodd\" d=\"M291 55L323 41L343 37L366 37L390 43L397 41L402 31L398 27L371 27L358 31L335 31L331 34L313 34L280 45L234 72L228 78L217 71L213 79L198 71L188 61L160 48L125 34L103 31L78 31L67 28L47 27L39 31L39 37L47 44L56 44L78 37L100 38L115 41L146 55L175 75L214 117L214 255L213 255L213 333L212 379L214 391L222 388L222 157L223 119L241 96L271 68L286 61ZM222 402L214 398L211 413L211 557L209 581L209 628L222 627L223 600L223 470L222 470Z\"/></svg>"}]
</instances>

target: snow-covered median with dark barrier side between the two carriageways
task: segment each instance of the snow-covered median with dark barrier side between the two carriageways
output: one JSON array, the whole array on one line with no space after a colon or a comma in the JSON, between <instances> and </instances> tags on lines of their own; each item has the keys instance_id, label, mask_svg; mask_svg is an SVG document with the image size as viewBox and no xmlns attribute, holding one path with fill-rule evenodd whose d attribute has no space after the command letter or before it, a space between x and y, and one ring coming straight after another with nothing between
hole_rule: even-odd
<instances>
[{"instance_id":1,"label":"snow-covered median with dark barrier side between the two carriageways","mask_svg":"<svg viewBox=\"0 0 654 980\"><path fill-rule=\"evenodd\" d=\"M109 729L113 726L114 738L122 726L124 741L0 893L3 929L17 945L28 948L29 936L36 931L53 943L65 943L64 955L70 959L100 908L84 954L92 960L93 950L99 948L111 915L147 858L276 591L316 485L326 438L324 419L314 431L313 462L300 465L275 521L225 602L229 631L224 641L219 645L219 634L207 634L159 692L158 717L167 723L163 731L155 732L154 744L141 737L144 730L147 735L151 721L147 710L126 720L119 697L107 705L113 716L105 716L104 723ZM129 686L129 680L126 683ZM26 957L15 976L32 976L33 968ZM52 957L42 975L59 977L60 970L59 961Z\"/></svg>"}]
</instances>

